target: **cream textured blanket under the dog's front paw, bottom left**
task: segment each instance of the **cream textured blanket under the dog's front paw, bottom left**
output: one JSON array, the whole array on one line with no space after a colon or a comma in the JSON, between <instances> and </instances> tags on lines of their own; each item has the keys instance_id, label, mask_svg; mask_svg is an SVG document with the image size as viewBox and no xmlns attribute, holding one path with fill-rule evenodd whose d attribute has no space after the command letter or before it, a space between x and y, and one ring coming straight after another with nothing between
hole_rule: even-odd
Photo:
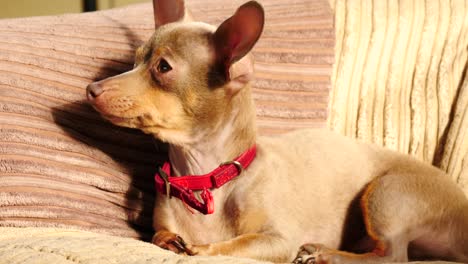
<instances>
[{"instance_id":1,"label":"cream textured blanket under the dog's front paw, bottom left","mask_svg":"<svg viewBox=\"0 0 468 264\"><path fill-rule=\"evenodd\" d=\"M184 257L152 244L54 228L0 228L0 264L264 263L230 257Z\"/></svg>"}]
</instances>

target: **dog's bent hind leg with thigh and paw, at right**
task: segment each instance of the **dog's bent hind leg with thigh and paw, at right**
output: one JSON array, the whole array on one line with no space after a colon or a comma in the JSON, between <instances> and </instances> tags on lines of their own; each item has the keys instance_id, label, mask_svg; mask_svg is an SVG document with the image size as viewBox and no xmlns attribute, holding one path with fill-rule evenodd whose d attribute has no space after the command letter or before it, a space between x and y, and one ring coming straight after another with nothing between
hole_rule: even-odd
<instances>
[{"instance_id":1,"label":"dog's bent hind leg with thigh and paw, at right","mask_svg":"<svg viewBox=\"0 0 468 264\"><path fill-rule=\"evenodd\" d=\"M376 244L372 252L354 254L309 244L301 247L295 263L406 262L410 245L424 258L466 262L467 199L449 177L424 172L389 173L366 186L361 208L367 234Z\"/></svg>"}]
</instances>

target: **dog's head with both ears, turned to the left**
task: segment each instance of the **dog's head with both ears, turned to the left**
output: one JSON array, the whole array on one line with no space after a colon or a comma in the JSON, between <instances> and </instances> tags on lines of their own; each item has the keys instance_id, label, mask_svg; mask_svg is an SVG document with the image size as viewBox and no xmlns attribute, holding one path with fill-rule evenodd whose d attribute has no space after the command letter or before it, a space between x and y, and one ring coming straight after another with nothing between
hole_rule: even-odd
<instances>
[{"instance_id":1,"label":"dog's head with both ears, turned to the left","mask_svg":"<svg viewBox=\"0 0 468 264\"><path fill-rule=\"evenodd\" d=\"M264 12L248 2L215 28L188 21L183 0L153 3L156 31L136 51L134 69L90 84L87 96L116 125L189 144L222 122L249 84L248 52L263 30Z\"/></svg>"}]
</instances>

